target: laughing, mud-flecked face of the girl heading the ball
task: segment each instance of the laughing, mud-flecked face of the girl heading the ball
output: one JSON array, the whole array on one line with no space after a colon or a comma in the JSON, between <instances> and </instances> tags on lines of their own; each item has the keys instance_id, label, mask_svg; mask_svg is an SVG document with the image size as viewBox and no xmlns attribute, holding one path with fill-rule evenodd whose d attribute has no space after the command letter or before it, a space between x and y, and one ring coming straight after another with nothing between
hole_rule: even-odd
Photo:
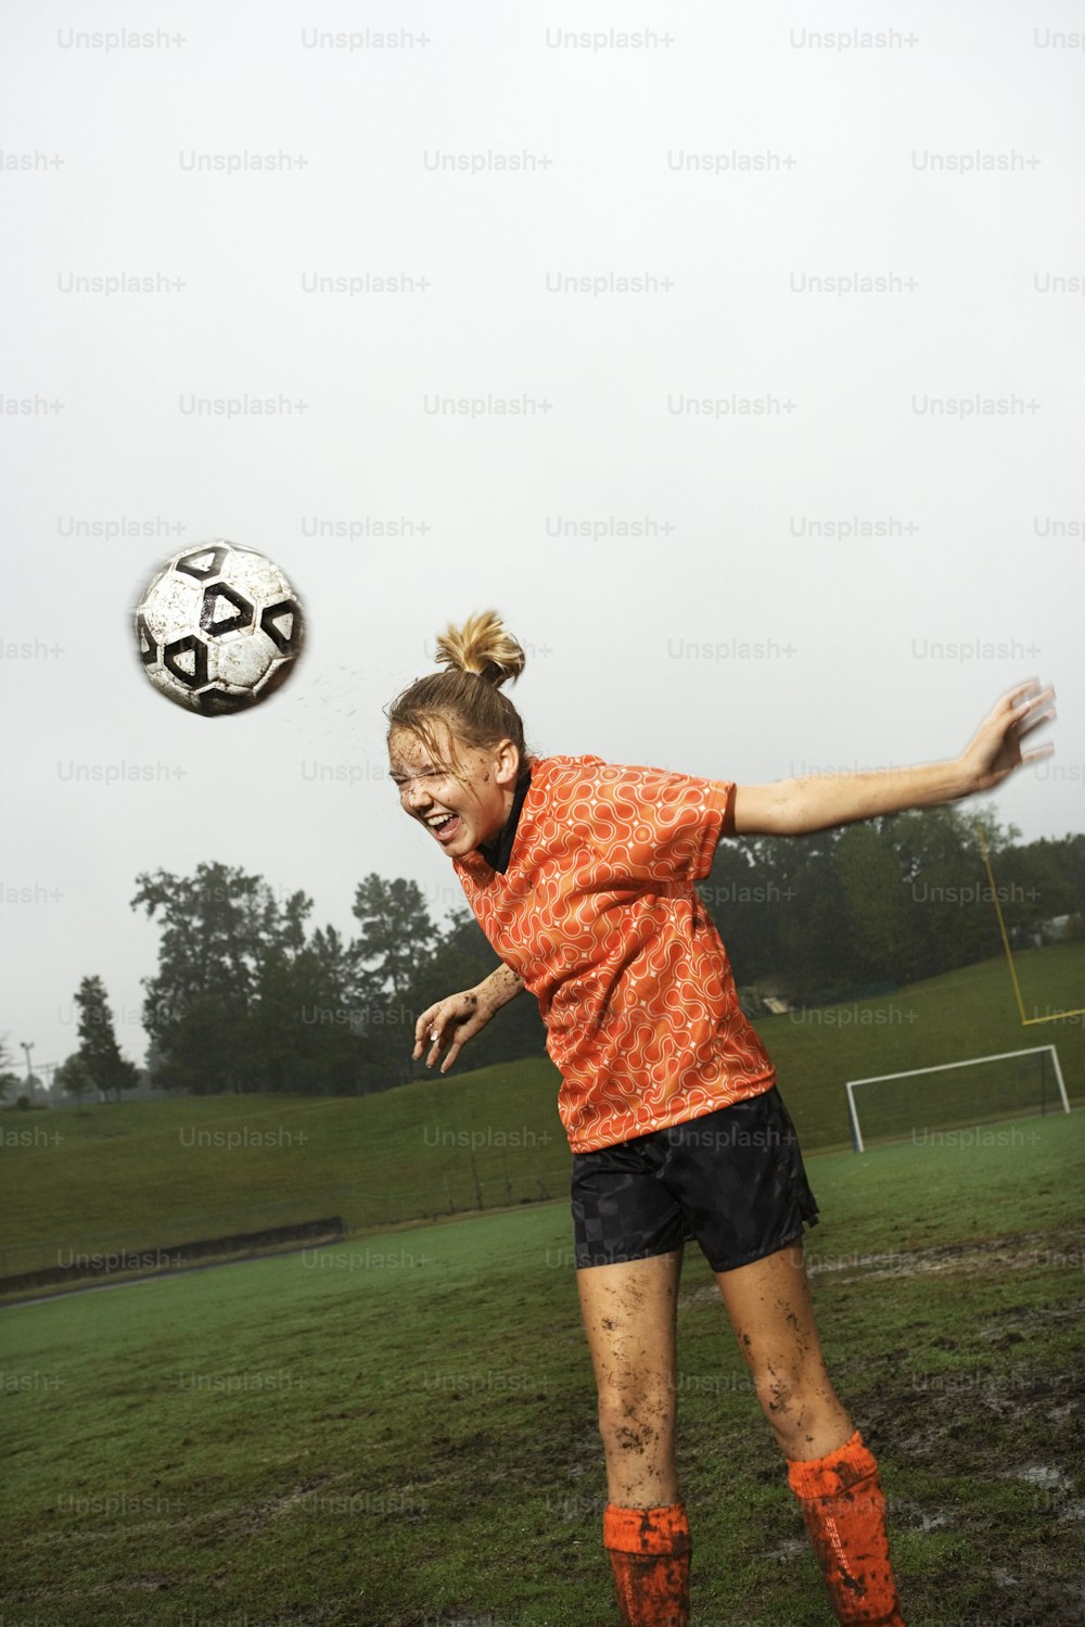
<instances>
[{"instance_id":1,"label":"laughing, mud-flecked face of the girl heading the ball","mask_svg":"<svg viewBox=\"0 0 1085 1627\"><path fill-rule=\"evenodd\" d=\"M436 724L434 735L441 747L438 761L413 735L392 735L390 776L403 810L426 827L451 859L460 859L496 836L509 817L519 752L511 740L485 750L454 742L446 724ZM442 766L447 763L459 770L459 779Z\"/></svg>"}]
</instances>

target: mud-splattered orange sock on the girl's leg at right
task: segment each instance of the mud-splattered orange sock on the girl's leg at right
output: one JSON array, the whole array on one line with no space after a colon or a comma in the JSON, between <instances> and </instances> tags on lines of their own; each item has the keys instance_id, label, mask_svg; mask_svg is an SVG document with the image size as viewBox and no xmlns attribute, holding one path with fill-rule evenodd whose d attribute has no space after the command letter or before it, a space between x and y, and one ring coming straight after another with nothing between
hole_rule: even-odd
<instances>
[{"instance_id":1,"label":"mud-splattered orange sock on the girl's leg at right","mask_svg":"<svg viewBox=\"0 0 1085 1627\"><path fill-rule=\"evenodd\" d=\"M885 1494L859 1430L825 1458L787 1464L836 1619L904 1627L885 1531Z\"/></svg>"}]
</instances>

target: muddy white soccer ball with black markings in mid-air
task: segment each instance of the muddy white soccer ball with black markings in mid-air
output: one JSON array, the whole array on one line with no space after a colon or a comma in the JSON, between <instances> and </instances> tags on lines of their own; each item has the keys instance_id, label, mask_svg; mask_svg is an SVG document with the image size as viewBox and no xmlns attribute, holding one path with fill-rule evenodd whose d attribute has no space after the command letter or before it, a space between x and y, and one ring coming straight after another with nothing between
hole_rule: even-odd
<instances>
[{"instance_id":1,"label":"muddy white soccer ball with black markings in mid-air","mask_svg":"<svg viewBox=\"0 0 1085 1627\"><path fill-rule=\"evenodd\" d=\"M155 688L218 718L255 706L294 670L301 602L283 573L221 537L174 553L135 608L135 641Z\"/></svg>"}]
</instances>

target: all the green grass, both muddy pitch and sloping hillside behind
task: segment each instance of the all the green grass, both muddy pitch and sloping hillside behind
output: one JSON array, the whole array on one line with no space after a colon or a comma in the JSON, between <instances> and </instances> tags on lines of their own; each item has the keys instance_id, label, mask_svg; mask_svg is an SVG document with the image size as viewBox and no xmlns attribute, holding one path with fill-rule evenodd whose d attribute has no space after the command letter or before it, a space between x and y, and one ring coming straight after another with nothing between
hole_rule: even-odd
<instances>
[{"instance_id":1,"label":"all the green grass, both muddy pitch and sloping hillside behind","mask_svg":"<svg viewBox=\"0 0 1085 1627\"><path fill-rule=\"evenodd\" d=\"M1039 1009L1085 1004L1080 945L1018 971ZM817 1155L848 1141L849 1077L1054 1043L1080 1103L1080 1019L1023 1030L996 960L760 1028L815 1154L821 1336L909 1627L1085 1622L1085 1116ZM7 1271L285 1217L351 1235L0 1310L0 1627L613 1622L555 1093L540 1059L363 1100L7 1113ZM693 1627L826 1624L693 1246L678 1316Z\"/></svg>"}]
</instances>

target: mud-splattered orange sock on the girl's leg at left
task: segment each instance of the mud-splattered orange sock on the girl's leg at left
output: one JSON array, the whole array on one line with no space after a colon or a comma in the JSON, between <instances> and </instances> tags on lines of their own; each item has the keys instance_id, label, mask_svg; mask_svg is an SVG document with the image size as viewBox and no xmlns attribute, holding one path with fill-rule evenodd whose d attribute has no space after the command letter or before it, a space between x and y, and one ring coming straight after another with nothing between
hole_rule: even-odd
<instances>
[{"instance_id":1,"label":"mud-splattered orange sock on the girl's leg at left","mask_svg":"<svg viewBox=\"0 0 1085 1627\"><path fill-rule=\"evenodd\" d=\"M615 1573L621 1627L688 1627L693 1544L685 1503L607 1503L604 1547Z\"/></svg>"}]
</instances>

